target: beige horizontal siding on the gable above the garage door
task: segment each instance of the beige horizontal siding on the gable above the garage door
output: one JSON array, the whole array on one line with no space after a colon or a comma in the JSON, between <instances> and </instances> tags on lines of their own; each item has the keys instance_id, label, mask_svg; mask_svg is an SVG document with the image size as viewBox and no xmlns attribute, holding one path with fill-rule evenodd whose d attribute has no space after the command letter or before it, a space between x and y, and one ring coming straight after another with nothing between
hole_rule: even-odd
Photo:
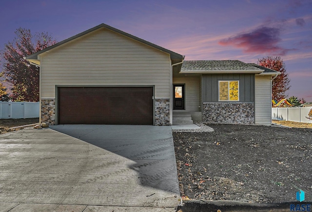
<instances>
[{"instance_id":1,"label":"beige horizontal siding on the gable above the garage door","mask_svg":"<svg viewBox=\"0 0 312 212\"><path fill-rule=\"evenodd\" d=\"M169 98L170 55L102 28L41 56L40 97L55 98L55 85L155 85Z\"/></svg>"}]
</instances>

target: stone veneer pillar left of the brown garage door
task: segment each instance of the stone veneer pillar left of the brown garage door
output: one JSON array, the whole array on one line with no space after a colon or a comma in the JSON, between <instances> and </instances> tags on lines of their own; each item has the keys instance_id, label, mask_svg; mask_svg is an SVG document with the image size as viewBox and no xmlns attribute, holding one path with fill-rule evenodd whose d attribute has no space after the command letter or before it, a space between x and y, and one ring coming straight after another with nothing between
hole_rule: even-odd
<instances>
[{"instance_id":1,"label":"stone veneer pillar left of the brown garage door","mask_svg":"<svg viewBox=\"0 0 312 212\"><path fill-rule=\"evenodd\" d=\"M55 99L41 99L41 122L55 125Z\"/></svg>"}]
</instances>

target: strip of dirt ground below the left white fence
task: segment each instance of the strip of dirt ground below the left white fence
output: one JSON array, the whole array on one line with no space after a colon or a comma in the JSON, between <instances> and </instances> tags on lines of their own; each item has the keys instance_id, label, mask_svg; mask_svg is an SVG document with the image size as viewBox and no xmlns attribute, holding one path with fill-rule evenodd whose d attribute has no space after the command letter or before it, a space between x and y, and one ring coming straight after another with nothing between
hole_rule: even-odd
<instances>
[{"instance_id":1,"label":"strip of dirt ground below the left white fence","mask_svg":"<svg viewBox=\"0 0 312 212\"><path fill-rule=\"evenodd\" d=\"M19 127L23 125L30 125L39 123L39 118L30 118L30 119L0 119L0 132L11 132L17 129L10 129L11 127Z\"/></svg>"}]
</instances>

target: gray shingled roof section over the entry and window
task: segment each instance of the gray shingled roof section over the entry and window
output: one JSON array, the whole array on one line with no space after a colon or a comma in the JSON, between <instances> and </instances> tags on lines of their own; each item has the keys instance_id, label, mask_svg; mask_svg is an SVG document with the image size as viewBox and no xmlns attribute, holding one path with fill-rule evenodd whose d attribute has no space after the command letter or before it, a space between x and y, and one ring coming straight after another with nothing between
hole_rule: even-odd
<instances>
[{"instance_id":1,"label":"gray shingled roof section over the entry and window","mask_svg":"<svg viewBox=\"0 0 312 212\"><path fill-rule=\"evenodd\" d=\"M264 70L238 60L184 61L180 73L262 73Z\"/></svg>"}]
</instances>

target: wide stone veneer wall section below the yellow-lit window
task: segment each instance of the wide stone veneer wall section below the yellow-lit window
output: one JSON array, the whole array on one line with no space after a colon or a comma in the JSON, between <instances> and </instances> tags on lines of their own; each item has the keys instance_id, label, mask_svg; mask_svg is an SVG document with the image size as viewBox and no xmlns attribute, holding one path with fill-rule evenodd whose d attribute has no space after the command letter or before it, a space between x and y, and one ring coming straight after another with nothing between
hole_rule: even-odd
<instances>
[{"instance_id":1,"label":"wide stone veneer wall section below the yellow-lit window","mask_svg":"<svg viewBox=\"0 0 312 212\"><path fill-rule=\"evenodd\" d=\"M204 103L202 121L211 124L254 124L254 103Z\"/></svg>"}]
</instances>

